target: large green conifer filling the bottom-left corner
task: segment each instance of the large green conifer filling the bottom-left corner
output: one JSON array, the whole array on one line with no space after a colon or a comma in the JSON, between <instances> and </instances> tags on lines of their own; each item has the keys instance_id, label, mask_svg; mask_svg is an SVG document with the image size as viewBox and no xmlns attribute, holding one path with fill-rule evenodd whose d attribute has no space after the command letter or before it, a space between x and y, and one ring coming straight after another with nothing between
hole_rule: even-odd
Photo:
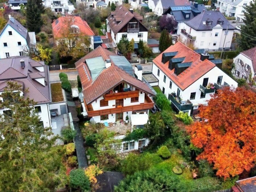
<instances>
[{"instance_id":1,"label":"large green conifer filling the bottom-left corner","mask_svg":"<svg viewBox=\"0 0 256 192\"><path fill-rule=\"evenodd\" d=\"M14 92L15 91L15 92ZM58 137L43 127L28 89L7 82L0 108L0 189L3 191L55 191L67 184L62 164L63 147L53 147Z\"/></svg>"}]
</instances>

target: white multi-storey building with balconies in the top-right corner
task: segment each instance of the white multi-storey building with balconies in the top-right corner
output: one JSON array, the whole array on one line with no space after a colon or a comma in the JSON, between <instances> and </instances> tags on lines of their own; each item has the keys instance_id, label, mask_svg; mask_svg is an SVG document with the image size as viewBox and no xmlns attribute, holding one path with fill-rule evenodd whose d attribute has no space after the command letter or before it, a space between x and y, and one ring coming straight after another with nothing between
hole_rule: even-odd
<instances>
[{"instance_id":1,"label":"white multi-storey building with balconies in the top-right corner","mask_svg":"<svg viewBox=\"0 0 256 192\"><path fill-rule=\"evenodd\" d=\"M242 22L244 18L243 12L244 7L249 5L251 0L218 0L214 5L219 9L220 12L229 17L235 17L236 21Z\"/></svg>"}]
</instances>

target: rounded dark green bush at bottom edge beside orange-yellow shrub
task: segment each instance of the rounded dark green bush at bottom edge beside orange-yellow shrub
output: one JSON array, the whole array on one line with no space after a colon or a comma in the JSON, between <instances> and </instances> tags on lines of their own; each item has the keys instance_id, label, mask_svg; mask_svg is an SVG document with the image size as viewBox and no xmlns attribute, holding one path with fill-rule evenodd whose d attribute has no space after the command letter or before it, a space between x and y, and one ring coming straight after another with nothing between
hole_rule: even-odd
<instances>
[{"instance_id":1,"label":"rounded dark green bush at bottom edge beside orange-yellow shrub","mask_svg":"<svg viewBox=\"0 0 256 192\"><path fill-rule=\"evenodd\" d=\"M70 187L81 191L91 191L89 178L83 169L74 169L70 172Z\"/></svg>"}]
</instances>

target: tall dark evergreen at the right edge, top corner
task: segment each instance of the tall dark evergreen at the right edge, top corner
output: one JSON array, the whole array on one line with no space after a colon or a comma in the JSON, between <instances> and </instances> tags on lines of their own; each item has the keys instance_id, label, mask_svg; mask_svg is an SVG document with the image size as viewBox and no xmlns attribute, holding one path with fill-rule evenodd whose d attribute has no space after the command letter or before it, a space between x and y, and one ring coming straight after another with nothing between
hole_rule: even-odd
<instances>
[{"instance_id":1,"label":"tall dark evergreen at the right edge, top corner","mask_svg":"<svg viewBox=\"0 0 256 192\"><path fill-rule=\"evenodd\" d=\"M244 19L245 25L241 26L241 39L239 40L239 46L243 50L251 49L256 46L256 1L252 1L248 6L244 7Z\"/></svg>"}]
</instances>

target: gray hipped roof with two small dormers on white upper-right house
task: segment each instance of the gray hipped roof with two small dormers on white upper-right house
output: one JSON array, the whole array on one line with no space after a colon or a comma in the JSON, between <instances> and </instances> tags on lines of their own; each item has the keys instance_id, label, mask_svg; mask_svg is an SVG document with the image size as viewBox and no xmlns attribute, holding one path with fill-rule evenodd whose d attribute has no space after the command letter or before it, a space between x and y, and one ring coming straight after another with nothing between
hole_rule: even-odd
<instances>
[{"instance_id":1,"label":"gray hipped roof with two small dormers on white upper-right house","mask_svg":"<svg viewBox=\"0 0 256 192\"><path fill-rule=\"evenodd\" d=\"M218 25L218 20L222 19L223 25L222 28L226 29L228 26L228 30L235 29L231 24L229 24L228 20L224 17L224 15L219 11L205 11L201 14L195 16L193 19L185 22L191 28L197 31L207 31L212 30L216 25ZM212 25L203 25L203 22L207 20L212 20ZM228 25L229 24L229 25Z\"/></svg>"}]
</instances>

